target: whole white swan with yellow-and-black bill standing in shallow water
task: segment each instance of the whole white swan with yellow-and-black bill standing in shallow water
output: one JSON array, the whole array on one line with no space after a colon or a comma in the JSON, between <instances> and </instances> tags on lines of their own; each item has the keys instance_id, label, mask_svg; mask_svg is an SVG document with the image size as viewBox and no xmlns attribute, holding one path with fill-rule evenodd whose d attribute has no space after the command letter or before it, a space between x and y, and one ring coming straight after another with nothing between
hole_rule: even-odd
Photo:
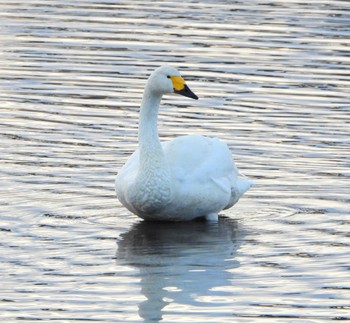
<instances>
[{"instance_id":1,"label":"whole white swan with yellow-and-black bill standing in shallow water","mask_svg":"<svg viewBox=\"0 0 350 323\"><path fill-rule=\"evenodd\" d=\"M217 221L253 182L239 175L227 144L218 138L188 135L160 142L158 110L167 93L198 99L177 69L161 66L150 75L140 109L139 148L117 174L117 198L144 220Z\"/></svg>"}]
</instances>

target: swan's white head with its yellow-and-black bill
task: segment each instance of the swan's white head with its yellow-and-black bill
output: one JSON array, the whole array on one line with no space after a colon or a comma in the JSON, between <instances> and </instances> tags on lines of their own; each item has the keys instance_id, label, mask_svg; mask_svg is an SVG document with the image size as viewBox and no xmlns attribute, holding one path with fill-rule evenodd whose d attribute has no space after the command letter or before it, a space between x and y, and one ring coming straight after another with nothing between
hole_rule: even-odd
<instances>
[{"instance_id":1,"label":"swan's white head with its yellow-and-black bill","mask_svg":"<svg viewBox=\"0 0 350 323\"><path fill-rule=\"evenodd\" d=\"M147 86L160 95L177 93L198 100L198 96L186 85L179 71L170 66L158 67L149 77Z\"/></svg>"}]
</instances>

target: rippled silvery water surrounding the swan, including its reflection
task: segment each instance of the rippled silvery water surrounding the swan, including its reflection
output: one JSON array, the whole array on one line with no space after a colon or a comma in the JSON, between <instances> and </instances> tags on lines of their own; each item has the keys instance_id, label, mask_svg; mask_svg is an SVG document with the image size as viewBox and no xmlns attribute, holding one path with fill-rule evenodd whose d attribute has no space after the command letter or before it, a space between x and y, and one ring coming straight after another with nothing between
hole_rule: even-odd
<instances>
[{"instance_id":1,"label":"rippled silvery water surrounding the swan, including its reflection","mask_svg":"<svg viewBox=\"0 0 350 323\"><path fill-rule=\"evenodd\" d=\"M350 320L348 1L0 1L2 322ZM218 224L114 197L155 67L164 140L256 186Z\"/></svg>"}]
</instances>

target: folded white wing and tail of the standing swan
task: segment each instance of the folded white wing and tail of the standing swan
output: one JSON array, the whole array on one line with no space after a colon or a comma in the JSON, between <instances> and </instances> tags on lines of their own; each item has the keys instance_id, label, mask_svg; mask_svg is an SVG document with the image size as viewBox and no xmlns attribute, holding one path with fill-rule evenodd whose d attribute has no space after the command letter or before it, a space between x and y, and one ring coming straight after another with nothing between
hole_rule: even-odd
<instances>
[{"instance_id":1,"label":"folded white wing and tail of the standing swan","mask_svg":"<svg viewBox=\"0 0 350 323\"><path fill-rule=\"evenodd\" d=\"M223 208L233 206L253 185L238 174L231 151L217 138L183 136L163 144L172 176L188 192L216 196Z\"/></svg>"}]
</instances>

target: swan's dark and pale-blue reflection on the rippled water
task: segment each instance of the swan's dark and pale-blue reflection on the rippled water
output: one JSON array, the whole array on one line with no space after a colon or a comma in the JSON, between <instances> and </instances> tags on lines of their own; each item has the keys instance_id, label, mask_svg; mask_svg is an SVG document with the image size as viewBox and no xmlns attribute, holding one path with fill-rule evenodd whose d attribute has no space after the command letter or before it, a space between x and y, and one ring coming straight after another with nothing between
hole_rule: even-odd
<instances>
[{"instance_id":1,"label":"swan's dark and pale-blue reflection on the rippled water","mask_svg":"<svg viewBox=\"0 0 350 323\"><path fill-rule=\"evenodd\" d=\"M228 218L218 223L139 222L123 234L117 262L139 269L144 321L159 322L170 303L198 307L207 305L205 297L224 296L232 278L227 270L239 265L234 260L237 235L236 221Z\"/></svg>"}]
</instances>

